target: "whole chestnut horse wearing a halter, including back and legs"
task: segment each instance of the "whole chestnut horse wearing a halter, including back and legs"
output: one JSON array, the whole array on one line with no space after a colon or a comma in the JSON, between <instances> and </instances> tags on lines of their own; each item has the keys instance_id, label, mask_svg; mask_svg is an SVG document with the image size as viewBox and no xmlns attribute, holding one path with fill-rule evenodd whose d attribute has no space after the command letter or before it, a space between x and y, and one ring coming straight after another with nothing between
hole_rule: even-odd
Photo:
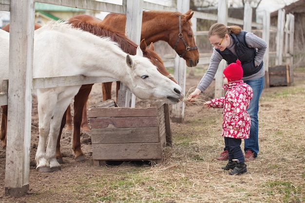
<instances>
[{"instance_id":1,"label":"whole chestnut horse wearing a halter, including back and legs","mask_svg":"<svg viewBox=\"0 0 305 203\"><path fill-rule=\"evenodd\" d=\"M180 56L186 60L189 67L196 66L199 62L199 52L191 29L191 10L185 14L171 11L143 11L141 40L145 39L148 44L157 41L166 41ZM104 20L89 15L78 15L71 19L79 19L83 22L108 26L118 32L125 33L126 16L122 14L108 14ZM152 46L152 45L151 45ZM102 83L103 100L111 99L112 82ZM116 83L116 92L119 82ZM116 93L117 95L117 93ZM117 97L116 97L117 99ZM87 120L87 109L83 110L81 127L83 131L90 131ZM72 129L70 109L67 113L67 127Z\"/></svg>"}]
</instances>

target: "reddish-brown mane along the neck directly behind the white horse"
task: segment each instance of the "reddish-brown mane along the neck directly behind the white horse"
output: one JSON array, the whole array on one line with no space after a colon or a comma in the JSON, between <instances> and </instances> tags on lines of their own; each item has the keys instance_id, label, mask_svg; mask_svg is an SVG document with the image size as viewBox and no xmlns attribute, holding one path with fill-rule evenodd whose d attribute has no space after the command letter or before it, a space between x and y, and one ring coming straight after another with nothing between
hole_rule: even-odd
<instances>
[{"instance_id":1,"label":"reddish-brown mane along the neck directly behind the white horse","mask_svg":"<svg viewBox=\"0 0 305 203\"><path fill-rule=\"evenodd\" d=\"M98 23L86 23L80 19L70 19L68 21L75 28L82 29L83 31L90 32L100 37L110 37L114 42L118 43L118 46L130 55L136 54L137 44L124 34L114 30L111 27L105 25L99 25Z\"/></svg>"}]
</instances>

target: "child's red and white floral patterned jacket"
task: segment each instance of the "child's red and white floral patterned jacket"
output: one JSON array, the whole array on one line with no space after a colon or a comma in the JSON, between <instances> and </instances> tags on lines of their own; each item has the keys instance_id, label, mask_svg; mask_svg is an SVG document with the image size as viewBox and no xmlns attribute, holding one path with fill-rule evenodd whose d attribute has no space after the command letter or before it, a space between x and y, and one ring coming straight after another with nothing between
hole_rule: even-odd
<instances>
[{"instance_id":1,"label":"child's red and white floral patterned jacket","mask_svg":"<svg viewBox=\"0 0 305 203\"><path fill-rule=\"evenodd\" d=\"M253 97L252 88L243 80L225 84L225 97L210 100L210 107L224 108L222 136L237 139L248 139L250 116L247 111Z\"/></svg>"}]
</instances>

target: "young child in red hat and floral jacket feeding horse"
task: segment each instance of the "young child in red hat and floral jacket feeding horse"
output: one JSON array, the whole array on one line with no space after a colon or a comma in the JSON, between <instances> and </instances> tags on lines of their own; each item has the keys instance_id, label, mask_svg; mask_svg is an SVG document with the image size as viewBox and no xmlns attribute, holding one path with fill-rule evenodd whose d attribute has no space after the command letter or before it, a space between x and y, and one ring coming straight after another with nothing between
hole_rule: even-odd
<instances>
[{"instance_id":1,"label":"young child in red hat and floral jacket feeding horse","mask_svg":"<svg viewBox=\"0 0 305 203\"><path fill-rule=\"evenodd\" d=\"M225 75L223 89L227 91L225 97L212 99L205 102L204 105L208 109L210 107L224 108L222 136L225 137L225 145L228 147L229 162L222 169L233 169L229 174L239 175L247 172L245 157L240 145L242 139L249 138L251 119L247 109L253 97L253 91L242 80L244 72L239 60L229 64L223 73Z\"/></svg>"}]
</instances>

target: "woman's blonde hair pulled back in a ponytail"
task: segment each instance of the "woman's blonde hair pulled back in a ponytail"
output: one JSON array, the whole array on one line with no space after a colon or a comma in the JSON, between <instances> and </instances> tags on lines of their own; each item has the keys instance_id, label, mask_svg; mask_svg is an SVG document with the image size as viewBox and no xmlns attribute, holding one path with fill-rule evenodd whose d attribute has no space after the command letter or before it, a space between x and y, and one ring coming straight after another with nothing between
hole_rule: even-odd
<instances>
[{"instance_id":1,"label":"woman's blonde hair pulled back in a ponytail","mask_svg":"<svg viewBox=\"0 0 305 203\"><path fill-rule=\"evenodd\" d=\"M209 38L213 35L218 35L220 38L225 38L225 36L230 33L238 35L242 31L242 28L238 25L226 26L222 23L215 23L210 27Z\"/></svg>"}]
</instances>

